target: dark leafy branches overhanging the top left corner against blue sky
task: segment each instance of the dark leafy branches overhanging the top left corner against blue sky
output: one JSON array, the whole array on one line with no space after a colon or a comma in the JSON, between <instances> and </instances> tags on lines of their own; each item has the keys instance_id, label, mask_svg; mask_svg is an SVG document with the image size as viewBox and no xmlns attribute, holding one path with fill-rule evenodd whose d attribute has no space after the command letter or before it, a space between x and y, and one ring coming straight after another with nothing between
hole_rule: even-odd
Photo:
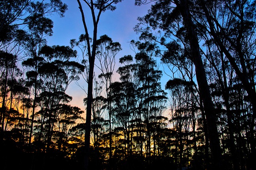
<instances>
[{"instance_id":1,"label":"dark leafy branches overhanging the top left corner against blue sky","mask_svg":"<svg viewBox=\"0 0 256 170\"><path fill-rule=\"evenodd\" d=\"M26 29L29 23L45 15L58 13L64 16L67 5L61 0L39 2L35 0L4 0L0 2L0 47L15 39L18 29ZM22 25L22 27L20 27ZM3 44L5 42L5 44ZM8 44L8 43L7 43Z\"/></svg>"}]
</instances>

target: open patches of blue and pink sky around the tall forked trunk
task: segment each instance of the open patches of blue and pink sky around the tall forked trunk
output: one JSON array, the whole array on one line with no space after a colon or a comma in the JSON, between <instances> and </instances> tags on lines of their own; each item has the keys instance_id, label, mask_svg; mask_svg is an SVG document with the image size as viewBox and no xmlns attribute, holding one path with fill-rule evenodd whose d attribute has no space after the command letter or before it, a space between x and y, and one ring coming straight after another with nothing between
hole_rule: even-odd
<instances>
[{"instance_id":1,"label":"open patches of blue and pink sky around the tall forked trunk","mask_svg":"<svg viewBox=\"0 0 256 170\"><path fill-rule=\"evenodd\" d=\"M52 37L47 39L48 45L67 46L70 45L70 39L78 39L81 34L85 33L78 2L76 0L62 0L62 2L68 5L68 10L63 18L57 15L50 17L54 22L54 33ZM90 21L91 14L83 0L81 0L81 3L86 15L86 21L89 21L89 35L92 37L93 26ZM117 58L123 57L124 55L134 56L134 51L132 51L128 42L132 39L138 39L139 35L134 32L133 28L138 23L137 18L147 14L150 6L151 4L135 6L134 0L124 0L116 4L117 8L115 11L106 11L101 14L98 24L98 38L100 35L106 34L111 37L114 42L121 44L122 51L118 53ZM120 64L117 60L115 68L117 69L119 66ZM114 81L118 81L118 77L116 77ZM80 80L78 83L80 86L86 86L84 80ZM66 93L73 98L70 102L71 106L78 106L80 109L85 110L83 99L86 97L86 94L75 82L70 84Z\"/></svg>"}]
</instances>

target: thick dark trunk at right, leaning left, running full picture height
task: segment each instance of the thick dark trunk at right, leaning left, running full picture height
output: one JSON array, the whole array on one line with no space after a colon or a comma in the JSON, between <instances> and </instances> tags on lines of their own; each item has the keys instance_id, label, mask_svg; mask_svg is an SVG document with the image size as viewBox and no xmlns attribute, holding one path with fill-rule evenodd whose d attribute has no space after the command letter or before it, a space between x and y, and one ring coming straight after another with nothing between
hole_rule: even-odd
<instances>
[{"instance_id":1,"label":"thick dark trunk at right, leaning left, running full picture height","mask_svg":"<svg viewBox=\"0 0 256 170\"><path fill-rule=\"evenodd\" d=\"M204 110L206 114L207 129L210 140L210 149L212 154L212 165L213 169L221 168L221 149L220 140L218 137L218 128L216 123L216 113L214 112L214 107L212 104L212 98L206 79L206 73L204 70L204 65L202 63L202 58L200 55L200 48L198 43L198 38L194 28L194 23L192 22L191 14L188 7L188 0L174 0L176 6L179 8L182 18L188 33L188 39L191 48L192 61L196 68L196 78L198 82L198 88L200 91L200 97L202 98L204 104Z\"/></svg>"}]
</instances>

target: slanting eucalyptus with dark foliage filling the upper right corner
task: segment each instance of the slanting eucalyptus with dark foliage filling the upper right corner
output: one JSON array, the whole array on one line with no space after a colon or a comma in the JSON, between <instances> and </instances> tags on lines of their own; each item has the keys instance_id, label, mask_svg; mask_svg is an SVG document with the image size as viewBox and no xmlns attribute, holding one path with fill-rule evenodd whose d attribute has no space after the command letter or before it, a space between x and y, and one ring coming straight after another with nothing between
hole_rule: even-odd
<instances>
[{"instance_id":1,"label":"slanting eucalyptus with dark foliage filling the upper right corner","mask_svg":"<svg viewBox=\"0 0 256 170\"><path fill-rule=\"evenodd\" d=\"M214 43L234 68L250 99L252 115L250 121L251 158L255 156L255 2L199 1L202 9L202 28L214 39ZM213 11L218 11L215 13ZM221 34L220 34L221 32ZM253 156L254 155L254 156ZM250 158L250 159L251 159ZM250 162L252 166L252 162Z\"/></svg>"}]
</instances>

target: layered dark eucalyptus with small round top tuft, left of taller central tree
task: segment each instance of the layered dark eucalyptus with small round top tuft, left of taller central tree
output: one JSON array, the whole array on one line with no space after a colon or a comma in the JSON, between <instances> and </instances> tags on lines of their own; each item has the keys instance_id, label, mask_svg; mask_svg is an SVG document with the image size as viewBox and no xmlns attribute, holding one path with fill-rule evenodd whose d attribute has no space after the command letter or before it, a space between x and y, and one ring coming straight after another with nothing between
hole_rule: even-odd
<instances>
[{"instance_id":1,"label":"layered dark eucalyptus with small round top tuft, left of taller central tree","mask_svg":"<svg viewBox=\"0 0 256 170\"><path fill-rule=\"evenodd\" d=\"M121 64L117 70L120 74L120 82L114 82L112 89L113 122L122 129L124 135L124 151L126 156L132 155L133 150L133 123L136 107L136 78L134 73L137 70L136 64L132 64L132 56L125 55L119 59Z\"/></svg>"}]
</instances>

